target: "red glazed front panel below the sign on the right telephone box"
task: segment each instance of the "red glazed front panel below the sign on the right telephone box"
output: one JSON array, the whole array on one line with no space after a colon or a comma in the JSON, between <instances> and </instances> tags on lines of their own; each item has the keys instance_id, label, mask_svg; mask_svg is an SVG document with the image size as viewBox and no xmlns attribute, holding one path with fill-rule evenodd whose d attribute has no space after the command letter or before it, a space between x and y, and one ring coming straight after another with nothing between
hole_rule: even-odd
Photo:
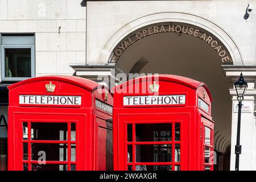
<instances>
[{"instance_id":1,"label":"red glazed front panel below the sign on the right telephone box","mask_svg":"<svg viewBox=\"0 0 256 182\"><path fill-rule=\"evenodd\" d=\"M188 169L187 114L119 115L118 121L125 131L118 149L123 154L119 170Z\"/></svg>"}]
</instances>

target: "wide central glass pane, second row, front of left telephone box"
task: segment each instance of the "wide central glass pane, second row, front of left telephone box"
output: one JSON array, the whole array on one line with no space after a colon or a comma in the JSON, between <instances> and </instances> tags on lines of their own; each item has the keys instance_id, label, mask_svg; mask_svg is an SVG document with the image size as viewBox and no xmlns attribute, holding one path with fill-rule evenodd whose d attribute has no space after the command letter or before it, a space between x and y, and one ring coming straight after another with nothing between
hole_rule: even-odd
<instances>
[{"instance_id":1,"label":"wide central glass pane, second row, front of left telephone box","mask_svg":"<svg viewBox=\"0 0 256 182\"><path fill-rule=\"evenodd\" d=\"M42 157L52 161L67 161L68 145L59 143L31 143L32 160L40 160Z\"/></svg>"}]
</instances>

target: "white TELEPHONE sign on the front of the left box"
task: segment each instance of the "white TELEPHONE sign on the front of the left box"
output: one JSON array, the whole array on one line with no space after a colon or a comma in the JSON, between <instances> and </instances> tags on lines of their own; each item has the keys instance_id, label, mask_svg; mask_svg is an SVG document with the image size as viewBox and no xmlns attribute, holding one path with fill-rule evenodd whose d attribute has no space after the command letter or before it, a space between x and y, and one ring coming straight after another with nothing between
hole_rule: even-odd
<instances>
[{"instance_id":1,"label":"white TELEPHONE sign on the front of the left box","mask_svg":"<svg viewBox=\"0 0 256 182\"><path fill-rule=\"evenodd\" d=\"M81 105L81 96L31 96L20 95L19 104L30 105Z\"/></svg>"}]
</instances>

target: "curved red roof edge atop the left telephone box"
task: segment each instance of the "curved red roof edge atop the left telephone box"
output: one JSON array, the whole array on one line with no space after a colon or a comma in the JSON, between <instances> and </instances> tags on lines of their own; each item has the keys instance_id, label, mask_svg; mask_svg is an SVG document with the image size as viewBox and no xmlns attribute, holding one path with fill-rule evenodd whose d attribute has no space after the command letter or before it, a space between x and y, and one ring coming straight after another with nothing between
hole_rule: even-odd
<instances>
[{"instance_id":1,"label":"curved red roof edge atop the left telephone box","mask_svg":"<svg viewBox=\"0 0 256 182\"><path fill-rule=\"evenodd\" d=\"M50 76L40 76L40 77L35 77L35 78L29 78L27 80L23 80L20 82L16 82L15 84L12 84L8 86L8 89L14 89L18 86L22 86L25 84L29 84L31 82L37 82L37 81L61 81L61 82L66 82L68 84L76 85L81 88L84 88L90 92L92 92L94 89L96 89L98 86L103 86L98 84L95 81L88 80L86 78L81 78L77 76L68 76L68 75L50 75Z\"/></svg>"}]
</instances>

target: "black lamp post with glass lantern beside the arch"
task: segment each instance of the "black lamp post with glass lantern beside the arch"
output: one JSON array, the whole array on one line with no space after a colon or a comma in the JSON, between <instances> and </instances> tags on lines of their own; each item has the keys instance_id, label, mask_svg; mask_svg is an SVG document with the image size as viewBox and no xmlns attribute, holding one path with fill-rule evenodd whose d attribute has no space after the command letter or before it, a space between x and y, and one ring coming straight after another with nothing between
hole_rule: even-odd
<instances>
[{"instance_id":1,"label":"black lamp post with glass lantern beside the arch","mask_svg":"<svg viewBox=\"0 0 256 182\"><path fill-rule=\"evenodd\" d=\"M247 82L243 79L243 74L241 73L240 78L237 82L234 82L234 86L237 92L237 100L238 100L238 120L237 120L237 144L235 146L235 154L236 154L236 171L239 171L239 155L242 151L242 146L240 145L240 125L241 125L241 108L242 108L242 100L245 95L245 90L248 85Z\"/></svg>"}]
</instances>

